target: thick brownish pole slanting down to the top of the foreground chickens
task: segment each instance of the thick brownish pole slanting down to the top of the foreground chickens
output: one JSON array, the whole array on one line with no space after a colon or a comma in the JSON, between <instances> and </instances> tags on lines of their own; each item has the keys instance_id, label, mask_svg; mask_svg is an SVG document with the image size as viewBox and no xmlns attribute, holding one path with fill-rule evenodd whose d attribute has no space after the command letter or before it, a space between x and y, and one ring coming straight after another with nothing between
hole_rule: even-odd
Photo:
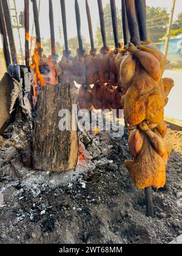
<instances>
[{"instance_id":1,"label":"thick brownish pole slanting down to the top of the foreground chickens","mask_svg":"<svg viewBox=\"0 0 182 256\"><path fill-rule=\"evenodd\" d=\"M125 5L130 32L130 41L135 45L140 45L140 34L135 13L135 0L125 0Z\"/></svg>"}]
</instances>

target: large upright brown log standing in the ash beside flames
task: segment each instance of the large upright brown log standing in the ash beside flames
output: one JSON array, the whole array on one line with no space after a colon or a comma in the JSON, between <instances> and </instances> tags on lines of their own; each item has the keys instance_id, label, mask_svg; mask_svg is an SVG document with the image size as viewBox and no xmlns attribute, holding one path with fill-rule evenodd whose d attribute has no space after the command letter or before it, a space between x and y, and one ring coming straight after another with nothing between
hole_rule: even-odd
<instances>
[{"instance_id":1,"label":"large upright brown log standing in the ash beside flames","mask_svg":"<svg viewBox=\"0 0 182 256\"><path fill-rule=\"evenodd\" d=\"M34 168L39 171L67 171L75 169L78 161L78 135L75 130L61 131L59 110L73 113L76 99L74 84L41 87L36 105L33 130ZM69 120L67 120L69 121ZM70 120L70 126L74 124Z\"/></svg>"}]
</instances>

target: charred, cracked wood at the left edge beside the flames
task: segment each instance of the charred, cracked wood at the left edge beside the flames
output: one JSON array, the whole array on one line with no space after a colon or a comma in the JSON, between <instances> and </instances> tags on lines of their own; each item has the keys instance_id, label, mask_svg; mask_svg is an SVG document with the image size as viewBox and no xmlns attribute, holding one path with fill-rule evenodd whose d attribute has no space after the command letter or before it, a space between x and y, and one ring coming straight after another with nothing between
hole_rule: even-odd
<instances>
[{"instance_id":1,"label":"charred, cracked wood at the left edge beside the flames","mask_svg":"<svg viewBox=\"0 0 182 256\"><path fill-rule=\"evenodd\" d=\"M0 134L15 119L18 111L24 119L31 118L32 85L33 74L30 68L18 65L8 68L8 73L0 82Z\"/></svg>"}]
</instances>

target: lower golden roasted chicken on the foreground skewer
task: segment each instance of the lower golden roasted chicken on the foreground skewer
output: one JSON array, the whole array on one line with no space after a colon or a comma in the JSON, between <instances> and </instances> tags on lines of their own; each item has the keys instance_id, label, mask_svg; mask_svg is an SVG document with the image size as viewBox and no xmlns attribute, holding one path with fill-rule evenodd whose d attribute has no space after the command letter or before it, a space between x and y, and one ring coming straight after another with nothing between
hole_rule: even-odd
<instances>
[{"instance_id":1,"label":"lower golden roasted chicken on the foreground skewer","mask_svg":"<svg viewBox=\"0 0 182 256\"><path fill-rule=\"evenodd\" d=\"M135 160L126 160L137 188L161 188L166 184L166 166L172 147L163 140L166 124L150 129L146 122L130 131L129 148Z\"/></svg>"}]
</instances>

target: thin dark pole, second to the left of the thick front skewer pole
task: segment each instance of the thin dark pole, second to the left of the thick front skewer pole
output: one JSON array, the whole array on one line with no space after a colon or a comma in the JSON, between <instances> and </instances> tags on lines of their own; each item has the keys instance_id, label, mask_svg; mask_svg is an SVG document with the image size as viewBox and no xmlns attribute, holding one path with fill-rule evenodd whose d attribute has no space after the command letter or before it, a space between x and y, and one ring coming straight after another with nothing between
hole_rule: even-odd
<instances>
[{"instance_id":1,"label":"thin dark pole, second to the left of the thick front skewer pole","mask_svg":"<svg viewBox=\"0 0 182 256\"><path fill-rule=\"evenodd\" d=\"M118 40L118 21L116 14L116 3L115 0L110 0L110 9L112 16L112 27L113 27L113 35L115 40L115 48L119 48L119 40Z\"/></svg>"}]
</instances>

